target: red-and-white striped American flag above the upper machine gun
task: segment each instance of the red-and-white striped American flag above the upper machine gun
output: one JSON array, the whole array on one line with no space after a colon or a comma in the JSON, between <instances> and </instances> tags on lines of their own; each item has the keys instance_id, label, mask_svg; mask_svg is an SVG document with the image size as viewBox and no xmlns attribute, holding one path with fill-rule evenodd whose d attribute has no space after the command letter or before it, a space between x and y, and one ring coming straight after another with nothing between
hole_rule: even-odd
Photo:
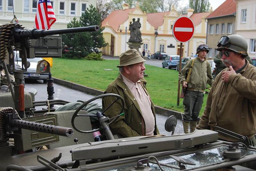
<instances>
[{"instance_id":1,"label":"red-and-white striped American flag above the upper machine gun","mask_svg":"<svg viewBox=\"0 0 256 171\"><path fill-rule=\"evenodd\" d=\"M47 1L47 6L46 6ZM52 24L56 21L50 0L39 0L36 10L35 28L50 30Z\"/></svg>"}]
</instances>

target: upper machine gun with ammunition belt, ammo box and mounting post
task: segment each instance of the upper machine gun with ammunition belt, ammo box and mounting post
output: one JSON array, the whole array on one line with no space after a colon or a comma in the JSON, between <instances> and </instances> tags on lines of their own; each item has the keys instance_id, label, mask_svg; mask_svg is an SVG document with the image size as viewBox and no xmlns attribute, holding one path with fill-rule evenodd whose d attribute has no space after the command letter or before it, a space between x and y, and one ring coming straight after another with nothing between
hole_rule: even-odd
<instances>
[{"instance_id":1,"label":"upper machine gun with ammunition belt, ammo box and mounting post","mask_svg":"<svg viewBox=\"0 0 256 171\"><path fill-rule=\"evenodd\" d=\"M22 106L24 106L24 102L20 101L22 99L22 88L21 80L23 79L23 72L27 71L27 58L35 58L35 57L61 57L61 38L60 41L52 42L52 49L60 49L58 55L56 55L56 51L54 53L50 53L47 44L48 39L43 40L40 45L40 37L45 37L47 35L56 35L56 34L68 34L68 33L78 33L78 32L92 32L98 31L99 26L89 26L89 27L78 27L78 28L67 28L67 29L58 29L58 30L38 30L31 29L26 30L20 24L5 24L0 26L0 64L2 64L8 84L11 84L11 79L9 77L9 71L7 69L5 61L9 63L9 68L14 72L15 82L14 90L12 86L10 86L10 91L12 93L12 98L15 104L16 111L23 117L24 113L22 110ZM38 46L36 46L36 41L32 41L33 39L39 39ZM59 43L60 42L60 43ZM21 70L16 71L14 67L14 54L12 46L15 47L16 51L20 51L20 58L22 59ZM9 60L5 60L6 52L8 51ZM22 104L23 103L23 104Z\"/></svg>"}]
</instances>

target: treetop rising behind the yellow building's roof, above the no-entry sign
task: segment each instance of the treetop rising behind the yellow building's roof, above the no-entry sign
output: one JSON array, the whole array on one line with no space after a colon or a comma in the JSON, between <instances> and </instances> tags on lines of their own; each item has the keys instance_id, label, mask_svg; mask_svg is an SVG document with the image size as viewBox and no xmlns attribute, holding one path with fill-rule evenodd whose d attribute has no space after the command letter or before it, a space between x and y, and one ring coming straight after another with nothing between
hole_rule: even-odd
<instances>
[{"instance_id":1,"label":"treetop rising behind the yellow building's roof, above the no-entry sign","mask_svg":"<svg viewBox=\"0 0 256 171\"><path fill-rule=\"evenodd\" d=\"M194 13L209 12L209 0L189 0L189 7L194 9Z\"/></svg>"}]
</instances>

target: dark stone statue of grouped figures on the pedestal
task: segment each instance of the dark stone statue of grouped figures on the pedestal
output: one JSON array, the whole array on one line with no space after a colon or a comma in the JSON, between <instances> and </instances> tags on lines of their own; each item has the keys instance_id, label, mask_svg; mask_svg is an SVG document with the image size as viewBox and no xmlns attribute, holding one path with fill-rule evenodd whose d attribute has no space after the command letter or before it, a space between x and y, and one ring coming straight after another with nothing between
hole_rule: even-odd
<instances>
[{"instance_id":1,"label":"dark stone statue of grouped figures on the pedestal","mask_svg":"<svg viewBox=\"0 0 256 171\"><path fill-rule=\"evenodd\" d=\"M133 23L130 22L129 30L130 30L130 39L128 42L142 42L141 32L140 32L140 18L135 21L135 18L132 19Z\"/></svg>"}]
</instances>

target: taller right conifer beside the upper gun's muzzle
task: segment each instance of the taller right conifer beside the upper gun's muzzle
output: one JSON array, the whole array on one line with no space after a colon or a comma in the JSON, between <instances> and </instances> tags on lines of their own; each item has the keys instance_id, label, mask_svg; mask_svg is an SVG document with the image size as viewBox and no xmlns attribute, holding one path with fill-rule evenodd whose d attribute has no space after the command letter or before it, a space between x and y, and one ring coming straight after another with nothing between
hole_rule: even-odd
<instances>
[{"instance_id":1,"label":"taller right conifer beside the upper gun's muzzle","mask_svg":"<svg viewBox=\"0 0 256 171\"><path fill-rule=\"evenodd\" d=\"M100 13L94 6L90 5L89 9L87 8L87 10L82 14L80 17L80 24L82 27L98 25L100 30L90 33L92 35L93 47L102 48L106 46L102 33L104 27L101 27Z\"/></svg>"}]
</instances>

